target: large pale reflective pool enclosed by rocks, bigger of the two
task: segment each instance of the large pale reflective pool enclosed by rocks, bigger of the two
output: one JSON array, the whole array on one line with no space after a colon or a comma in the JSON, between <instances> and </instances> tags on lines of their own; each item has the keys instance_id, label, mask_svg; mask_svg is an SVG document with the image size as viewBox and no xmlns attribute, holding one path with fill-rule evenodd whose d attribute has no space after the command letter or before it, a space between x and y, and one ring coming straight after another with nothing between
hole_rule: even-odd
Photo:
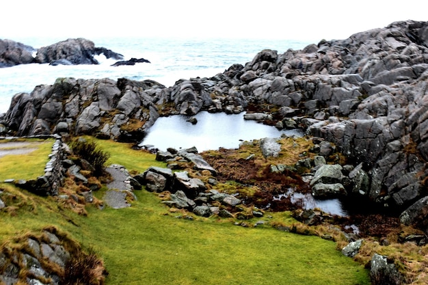
<instances>
[{"instance_id":1,"label":"large pale reflective pool enclosed by rocks, bigger of the two","mask_svg":"<svg viewBox=\"0 0 428 285\"><path fill-rule=\"evenodd\" d=\"M188 116L161 117L150 128L142 144L153 145L159 150L196 146L199 151L204 151L239 148L243 140L280 137L282 134L302 136L302 131L278 131L274 126L244 120L243 114L203 111L195 116L197 124L186 122Z\"/></svg>"}]
</instances>

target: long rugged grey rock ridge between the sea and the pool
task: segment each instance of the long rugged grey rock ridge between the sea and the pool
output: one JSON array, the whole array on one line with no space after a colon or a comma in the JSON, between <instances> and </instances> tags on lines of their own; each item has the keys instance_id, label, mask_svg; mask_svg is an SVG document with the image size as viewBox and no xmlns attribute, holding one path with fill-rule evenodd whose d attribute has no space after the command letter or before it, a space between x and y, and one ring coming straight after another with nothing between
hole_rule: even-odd
<instances>
[{"instance_id":1,"label":"long rugged grey rock ridge between the sea and the pool","mask_svg":"<svg viewBox=\"0 0 428 285\"><path fill-rule=\"evenodd\" d=\"M364 176L348 194L403 211L427 195L427 45L428 22L404 21L300 51L260 51L245 66L168 88L58 79L16 94L0 123L18 135L60 129L137 141L158 116L247 110L334 144L359 165L352 175Z\"/></svg>"}]
</instances>

